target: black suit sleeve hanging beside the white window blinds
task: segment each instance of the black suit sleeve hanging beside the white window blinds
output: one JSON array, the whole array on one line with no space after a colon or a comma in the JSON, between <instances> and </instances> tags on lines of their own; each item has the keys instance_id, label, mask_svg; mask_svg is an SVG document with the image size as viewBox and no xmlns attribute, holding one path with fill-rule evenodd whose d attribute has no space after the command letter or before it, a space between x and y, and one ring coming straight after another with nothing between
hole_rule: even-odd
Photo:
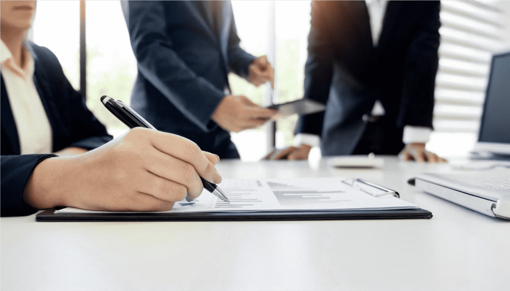
<instances>
[{"instance_id":1,"label":"black suit sleeve hanging beside the white window blinds","mask_svg":"<svg viewBox=\"0 0 510 291\"><path fill-rule=\"evenodd\" d=\"M413 3L415 4L415 3ZM397 125L432 128L438 70L439 1L421 2L420 21L404 61L403 89ZM416 7L415 7L416 8Z\"/></svg>"}]
</instances>

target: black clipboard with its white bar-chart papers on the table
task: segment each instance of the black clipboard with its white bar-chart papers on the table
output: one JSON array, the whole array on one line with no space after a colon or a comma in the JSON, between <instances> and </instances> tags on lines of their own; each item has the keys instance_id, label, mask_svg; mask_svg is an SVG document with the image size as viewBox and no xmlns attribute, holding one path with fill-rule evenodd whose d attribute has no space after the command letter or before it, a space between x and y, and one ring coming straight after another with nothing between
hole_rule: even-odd
<instances>
[{"instance_id":1,"label":"black clipboard with its white bar-chart papers on the table","mask_svg":"<svg viewBox=\"0 0 510 291\"><path fill-rule=\"evenodd\" d=\"M365 184L362 187L361 184ZM398 193L361 179L342 177L223 179L230 202L207 191L157 213L48 209L36 221L235 221L431 218L430 211ZM369 188L377 191L368 191ZM373 189L372 189L373 190ZM381 191L381 190L389 190ZM386 195L393 193L394 195Z\"/></svg>"}]
</instances>

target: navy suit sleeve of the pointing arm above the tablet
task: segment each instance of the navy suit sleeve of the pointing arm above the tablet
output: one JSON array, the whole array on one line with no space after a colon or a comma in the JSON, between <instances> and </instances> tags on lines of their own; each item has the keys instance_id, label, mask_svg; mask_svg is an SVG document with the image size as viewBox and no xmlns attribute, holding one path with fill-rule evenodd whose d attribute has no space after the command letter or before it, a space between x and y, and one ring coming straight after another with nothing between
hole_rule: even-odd
<instances>
[{"instance_id":1,"label":"navy suit sleeve of the pointing arm above the tablet","mask_svg":"<svg viewBox=\"0 0 510 291\"><path fill-rule=\"evenodd\" d=\"M236 74L243 78L248 77L248 66L256 58L251 54L248 54L244 49L241 48L239 43L241 39L237 35L236 21L234 20L234 13L232 11L232 5L227 2L229 13L232 15L232 22L230 25L230 35L228 38L228 67Z\"/></svg>"}]
</instances>

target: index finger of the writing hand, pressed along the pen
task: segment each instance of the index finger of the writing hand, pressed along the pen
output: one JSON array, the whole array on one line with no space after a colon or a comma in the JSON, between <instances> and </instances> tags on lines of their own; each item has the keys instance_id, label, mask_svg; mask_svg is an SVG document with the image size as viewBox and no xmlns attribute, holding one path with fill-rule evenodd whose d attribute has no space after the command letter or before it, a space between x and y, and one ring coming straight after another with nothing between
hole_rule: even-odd
<instances>
[{"instance_id":1,"label":"index finger of the writing hand, pressed along the pen","mask_svg":"<svg viewBox=\"0 0 510 291\"><path fill-rule=\"evenodd\" d=\"M212 183L215 182L216 168L196 143L187 138L158 130L150 132L150 143L157 150L192 165L200 177Z\"/></svg>"}]
</instances>

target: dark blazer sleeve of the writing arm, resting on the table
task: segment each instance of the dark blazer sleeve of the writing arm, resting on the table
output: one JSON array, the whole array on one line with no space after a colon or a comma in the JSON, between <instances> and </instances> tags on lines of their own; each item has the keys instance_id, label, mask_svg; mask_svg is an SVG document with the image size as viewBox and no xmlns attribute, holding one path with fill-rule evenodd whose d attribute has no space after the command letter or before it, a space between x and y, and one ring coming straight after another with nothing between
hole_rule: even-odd
<instances>
[{"instance_id":1,"label":"dark blazer sleeve of the writing arm, resting on the table","mask_svg":"<svg viewBox=\"0 0 510 291\"><path fill-rule=\"evenodd\" d=\"M25 184L35 167L54 154L23 154L0 156L0 216L25 216L37 209L23 200Z\"/></svg>"}]
</instances>

